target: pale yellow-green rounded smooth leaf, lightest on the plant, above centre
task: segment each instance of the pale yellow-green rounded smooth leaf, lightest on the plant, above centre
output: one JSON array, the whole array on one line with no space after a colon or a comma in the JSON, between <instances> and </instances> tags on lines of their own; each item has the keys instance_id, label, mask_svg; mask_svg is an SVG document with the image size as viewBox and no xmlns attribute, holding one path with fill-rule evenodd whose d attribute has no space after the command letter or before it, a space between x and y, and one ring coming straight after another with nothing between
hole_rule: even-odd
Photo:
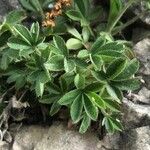
<instances>
[{"instance_id":1,"label":"pale yellow-green rounded smooth leaf, lightest on the plant, above centre","mask_svg":"<svg viewBox=\"0 0 150 150\"><path fill-rule=\"evenodd\" d=\"M76 49L80 49L83 47L82 41L75 39L75 38L70 38L67 43L66 46L68 49L72 49L72 50L76 50Z\"/></svg>"}]
</instances>

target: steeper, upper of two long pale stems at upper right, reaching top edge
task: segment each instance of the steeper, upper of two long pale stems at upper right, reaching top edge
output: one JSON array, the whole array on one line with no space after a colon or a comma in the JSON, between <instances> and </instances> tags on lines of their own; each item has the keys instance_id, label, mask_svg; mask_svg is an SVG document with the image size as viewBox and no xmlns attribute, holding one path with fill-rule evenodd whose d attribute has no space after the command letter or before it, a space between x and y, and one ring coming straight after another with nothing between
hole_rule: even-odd
<instances>
[{"instance_id":1,"label":"steeper, upper of two long pale stems at upper right, reaching top edge","mask_svg":"<svg viewBox=\"0 0 150 150\"><path fill-rule=\"evenodd\" d=\"M116 16L114 22L110 25L110 27L107 29L108 33L111 33L113 28L116 26L120 18L123 16L123 14L126 12L126 10L137 0L129 0L128 3L124 6L124 8L120 11L118 16Z\"/></svg>"}]
</instances>

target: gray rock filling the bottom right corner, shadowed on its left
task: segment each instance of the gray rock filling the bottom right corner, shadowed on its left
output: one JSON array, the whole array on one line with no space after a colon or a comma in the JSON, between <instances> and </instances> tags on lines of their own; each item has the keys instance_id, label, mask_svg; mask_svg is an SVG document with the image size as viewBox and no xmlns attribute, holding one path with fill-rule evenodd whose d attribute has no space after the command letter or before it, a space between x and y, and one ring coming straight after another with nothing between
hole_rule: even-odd
<instances>
[{"instance_id":1,"label":"gray rock filling the bottom right corner, shadowed on its left","mask_svg":"<svg viewBox=\"0 0 150 150\"><path fill-rule=\"evenodd\" d=\"M120 150L150 150L150 127L124 132L120 138Z\"/></svg>"}]
</instances>

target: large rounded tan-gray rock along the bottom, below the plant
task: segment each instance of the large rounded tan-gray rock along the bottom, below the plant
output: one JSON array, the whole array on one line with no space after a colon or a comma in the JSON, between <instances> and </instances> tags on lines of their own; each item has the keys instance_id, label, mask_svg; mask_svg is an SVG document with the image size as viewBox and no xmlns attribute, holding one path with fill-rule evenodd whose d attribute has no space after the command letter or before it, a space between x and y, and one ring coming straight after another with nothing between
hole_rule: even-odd
<instances>
[{"instance_id":1,"label":"large rounded tan-gray rock along the bottom, below the plant","mask_svg":"<svg viewBox=\"0 0 150 150\"><path fill-rule=\"evenodd\" d=\"M98 137L67 130L61 123L50 127L23 126L15 136L13 150L101 150Z\"/></svg>"}]
</instances>

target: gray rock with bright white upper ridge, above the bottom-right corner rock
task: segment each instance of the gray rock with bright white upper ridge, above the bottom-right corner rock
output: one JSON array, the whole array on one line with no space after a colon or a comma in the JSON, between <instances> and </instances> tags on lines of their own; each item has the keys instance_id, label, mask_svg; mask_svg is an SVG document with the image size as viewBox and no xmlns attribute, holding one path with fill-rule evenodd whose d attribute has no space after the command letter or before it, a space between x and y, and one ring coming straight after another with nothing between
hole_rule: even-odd
<instances>
[{"instance_id":1,"label":"gray rock with bright white upper ridge, above the bottom-right corner rock","mask_svg":"<svg viewBox=\"0 0 150 150\"><path fill-rule=\"evenodd\" d=\"M135 104L123 100L123 125L125 129L134 129L150 124L150 106Z\"/></svg>"}]
</instances>

